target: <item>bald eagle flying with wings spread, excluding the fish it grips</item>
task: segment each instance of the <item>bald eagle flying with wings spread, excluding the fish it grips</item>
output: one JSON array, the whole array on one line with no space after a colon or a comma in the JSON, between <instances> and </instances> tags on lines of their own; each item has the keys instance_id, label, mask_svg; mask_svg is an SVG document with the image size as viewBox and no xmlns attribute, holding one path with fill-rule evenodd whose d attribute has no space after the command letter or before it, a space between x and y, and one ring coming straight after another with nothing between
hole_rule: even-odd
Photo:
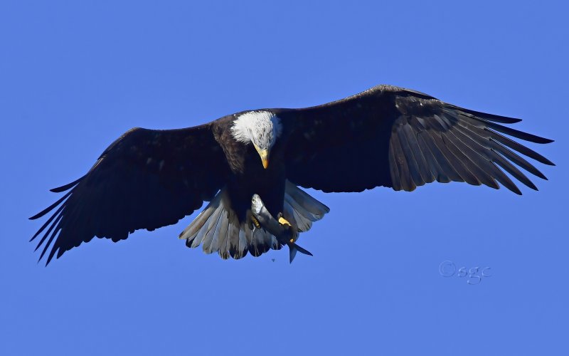
<instances>
[{"instance_id":1,"label":"bald eagle flying with wings spread, excluding the fish it grips","mask_svg":"<svg viewBox=\"0 0 569 356\"><path fill-rule=\"evenodd\" d=\"M32 240L43 233L36 250L43 246L40 260L49 251L47 265L94 236L127 239L138 229L175 224L209 201L179 237L188 247L242 258L291 247L297 238L277 239L251 214L255 194L267 216L297 232L329 212L299 186L411 192L454 181L494 189L500 183L521 194L503 170L536 190L519 168L546 177L519 154L553 163L504 135L553 141L500 125L519 121L378 85L312 108L244 111L179 130L134 128L83 177L51 189L65 194L30 218L53 211Z\"/></svg>"}]
</instances>

